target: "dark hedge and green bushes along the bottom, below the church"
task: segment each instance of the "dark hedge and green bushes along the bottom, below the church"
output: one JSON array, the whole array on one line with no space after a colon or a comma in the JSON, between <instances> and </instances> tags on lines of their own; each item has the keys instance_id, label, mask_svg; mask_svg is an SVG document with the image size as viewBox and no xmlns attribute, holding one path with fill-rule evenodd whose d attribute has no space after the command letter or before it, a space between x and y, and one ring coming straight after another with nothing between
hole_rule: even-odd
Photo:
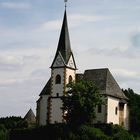
<instances>
[{"instance_id":1,"label":"dark hedge and green bushes along the bottom, below the church","mask_svg":"<svg viewBox=\"0 0 140 140\"><path fill-rule=\"evenodd\" d=\"M111 132L107 134L108 131ZM139 137L134 137L127 130L124 130L118 125L104 124L95 128L91 125L80 125L77 129L70 129L65 124L51 124L45 127L34 129L13 130L10 134L10 140L140 140Z\"/></svg>"}]
</instances>

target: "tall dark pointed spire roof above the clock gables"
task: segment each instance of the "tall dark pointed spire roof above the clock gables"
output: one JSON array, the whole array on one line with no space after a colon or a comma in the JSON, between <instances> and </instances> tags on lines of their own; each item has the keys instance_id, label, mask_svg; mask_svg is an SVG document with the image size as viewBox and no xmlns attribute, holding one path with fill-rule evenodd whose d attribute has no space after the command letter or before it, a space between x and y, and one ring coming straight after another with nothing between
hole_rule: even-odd
<instances>
[{"instance_id":1,"label":"tall dark pointed spire roof above the clock gables","mask_svg":"<svg viewBox=\"0 0 140 140\"><path fill-rule=\"evenodd\" d=\"M63 24L62 24L62 28L61 28L60 38L59 38L58 47L57 47L54 61L59 53L63 57L65 64L67 64L67 62L72 54L72 51L71 51L71 45L70 45L70 37L69 37L66 10L64 12ZM52 63L52 65L53 65L53 63Z\"/></svg>"}]
</instances>

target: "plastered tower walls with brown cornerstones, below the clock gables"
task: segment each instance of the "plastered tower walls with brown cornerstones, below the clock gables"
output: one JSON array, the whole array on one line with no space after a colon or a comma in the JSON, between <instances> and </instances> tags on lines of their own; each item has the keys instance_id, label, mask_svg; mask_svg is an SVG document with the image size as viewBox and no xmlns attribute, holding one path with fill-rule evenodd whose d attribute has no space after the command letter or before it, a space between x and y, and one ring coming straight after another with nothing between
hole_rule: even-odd
<instances>
[{"instance_id":1,"label":"plastered tower walls with brown cornerstones, below the clock gables","mask_svg":"<svg viewBox=\"0 0 140 140\"><path fill-rule=\"evenodd\" d=\"M56 84L56 76L60 75L61 83ZM66 94L66 85L69 83L69 76L75 81L75 70L69 68L52 69L52 87L51 87L51 123L63 122L62 100L61 96Z\"/></svg>"}]
</instances>

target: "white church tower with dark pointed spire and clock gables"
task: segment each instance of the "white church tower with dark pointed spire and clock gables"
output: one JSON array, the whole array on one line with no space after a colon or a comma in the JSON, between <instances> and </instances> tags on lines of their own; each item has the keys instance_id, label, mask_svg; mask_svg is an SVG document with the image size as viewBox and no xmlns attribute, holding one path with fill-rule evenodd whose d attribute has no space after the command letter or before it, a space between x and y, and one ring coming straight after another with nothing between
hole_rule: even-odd
<instances>
[{"instance_id":1,"label":"white church tower with dark pointed spire and clock gables","mask_svg":"<svg viewBox=\"0 0 140 140\"><path fill-rule=\"evenodd\" d=\"M65 10L57 51L51 65L51 93L47 113L49 123L63 122L61 97L66 95L66 85L75 81L75 72L76 64L71 50Z\"/></svg>"}]
</instances>

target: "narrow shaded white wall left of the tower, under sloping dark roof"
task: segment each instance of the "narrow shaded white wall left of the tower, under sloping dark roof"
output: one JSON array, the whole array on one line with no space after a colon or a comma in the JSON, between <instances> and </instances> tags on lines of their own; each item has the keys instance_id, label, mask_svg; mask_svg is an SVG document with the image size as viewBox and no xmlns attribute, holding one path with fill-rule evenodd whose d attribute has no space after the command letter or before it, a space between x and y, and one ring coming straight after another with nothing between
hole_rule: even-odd
<instances>
[{"instance_id":1,"label":"narrow shaded white wall left of the tower, under sloping dark roof","mask_svg":"<svg viewBox=\"0 0 140 140\"><path fill-rule=\"evenodd\" d=\"M40 100L39 125L46 125L46 119L47 119L47 100L48 100L48 95L42 95L42 98Z\"/></svg>"}]
</instances>

